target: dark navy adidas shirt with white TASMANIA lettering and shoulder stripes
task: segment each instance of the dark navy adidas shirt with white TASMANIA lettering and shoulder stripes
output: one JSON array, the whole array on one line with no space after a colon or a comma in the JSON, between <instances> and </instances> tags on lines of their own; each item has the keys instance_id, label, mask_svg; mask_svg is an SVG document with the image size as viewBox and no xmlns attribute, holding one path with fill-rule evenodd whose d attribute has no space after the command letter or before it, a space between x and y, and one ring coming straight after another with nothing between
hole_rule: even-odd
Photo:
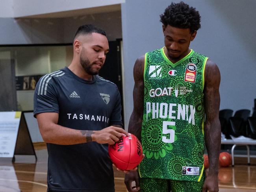
<instances>
[{"instance_id":1,"label":"dark navy adidas shirt with white TASMANIA lettering and shoulder stripes","mask_svg":"<svg viewBox=\"0 0 256 192\"><path fill-rule=\"evenodd\" d=\"M122 124L117 86L100 76L85 81L67 67L43 76L37 83L34 115L46 112L59 113L59 125L78 130ZM114 191L107 144L47 144L47 150L48 191Z\"/></svg>"}]
</instances>

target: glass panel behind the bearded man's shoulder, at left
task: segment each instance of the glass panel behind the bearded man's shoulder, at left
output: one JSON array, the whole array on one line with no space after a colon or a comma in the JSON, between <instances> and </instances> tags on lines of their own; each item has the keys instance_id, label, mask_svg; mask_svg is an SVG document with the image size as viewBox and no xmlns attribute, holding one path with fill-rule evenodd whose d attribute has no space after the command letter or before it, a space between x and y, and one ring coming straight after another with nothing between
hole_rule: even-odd
<instances>
[{"instance_id":1,"label":"glass panel behind the bearded man's shoulder, at left","mask_svg":"<svg viewBox=\"0 0 256 192\"><path fill-rule=\"evenodd\" d=\"M41 76L68 66L72 57L72 45L0 47L0 59L15 60L18 109L33 110L35 83Z\"/></svg>"}]
</instances>

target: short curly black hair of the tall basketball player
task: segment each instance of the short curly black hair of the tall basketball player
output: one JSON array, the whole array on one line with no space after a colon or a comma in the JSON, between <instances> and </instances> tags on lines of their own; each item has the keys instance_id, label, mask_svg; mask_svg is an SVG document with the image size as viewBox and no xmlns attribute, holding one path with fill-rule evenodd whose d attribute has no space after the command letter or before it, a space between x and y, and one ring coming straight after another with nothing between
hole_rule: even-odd
<instances>
[{"instance_id":1,"label":"short curly black hair of the tall basketball player","mask_svg":"<svg viewBox=\"0 0 256 192\"><path fill-rule=\"evenodd\" d=\"M171 3L160 15L160 21L164 26L170 25L176 28L189 28L190 33L197 31L200 25L200 15L194 7L189 7L183 1L180 3Z\"/></svg>"}]
</instances>

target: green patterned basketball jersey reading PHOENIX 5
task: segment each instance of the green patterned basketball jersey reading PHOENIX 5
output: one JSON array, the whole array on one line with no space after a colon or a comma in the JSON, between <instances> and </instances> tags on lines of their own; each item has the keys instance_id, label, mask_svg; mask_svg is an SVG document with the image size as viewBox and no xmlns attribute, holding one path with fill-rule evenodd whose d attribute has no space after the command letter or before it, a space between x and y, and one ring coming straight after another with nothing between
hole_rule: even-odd
<instances>
[{"instance_id":1,"label":"green patterned basketball jersey reading PHOENIX 5","mask_svg":"<svg viewBox=\"0 0 256 192\"><path fill-rule=\"evenodd\" d=\"M193 50L176 63L145 54L140 177L200 181L204 164L204 68Z\"/></svg>"}]
</instances>

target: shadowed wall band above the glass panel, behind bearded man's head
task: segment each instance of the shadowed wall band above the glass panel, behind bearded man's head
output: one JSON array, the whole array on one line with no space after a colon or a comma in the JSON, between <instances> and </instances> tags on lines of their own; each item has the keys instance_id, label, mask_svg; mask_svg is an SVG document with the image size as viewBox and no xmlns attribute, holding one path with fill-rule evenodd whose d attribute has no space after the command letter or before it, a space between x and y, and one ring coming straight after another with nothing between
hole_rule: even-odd
<instances>
[{"instance_id":1,"label":"shadowed wall band above the glass panel, behind bearded man's head","mask_svg":"<svg viewBox=\"0 0 256 192\"><path fill-rule=\"evenodd\" d=\"M0 44L72 43L77 28L94 24L109 41L122 38L121 11L67 18L0 18Z\"/></svg>"}]
</instances>

